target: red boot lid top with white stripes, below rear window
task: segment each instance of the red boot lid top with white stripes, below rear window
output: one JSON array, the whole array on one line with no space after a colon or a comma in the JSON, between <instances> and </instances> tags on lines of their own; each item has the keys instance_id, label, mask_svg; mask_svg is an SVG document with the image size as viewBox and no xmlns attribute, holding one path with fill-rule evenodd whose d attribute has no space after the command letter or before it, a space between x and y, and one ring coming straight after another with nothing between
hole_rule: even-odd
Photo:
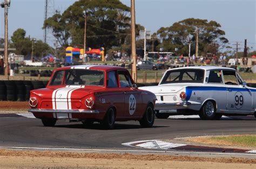
<instances>
[{"instance_id":1,"label":"red boot lid top with white stripes, below rear window","mask_svg":"<svg viewBox=\"0 0 256 169\"><path fill-rule=\"evenodd\" d=\"M63 88L42 88L32 90L32 93L41 98L83 98L99 89L92 87L63 87Z\"/></svg>"}]
</instances>

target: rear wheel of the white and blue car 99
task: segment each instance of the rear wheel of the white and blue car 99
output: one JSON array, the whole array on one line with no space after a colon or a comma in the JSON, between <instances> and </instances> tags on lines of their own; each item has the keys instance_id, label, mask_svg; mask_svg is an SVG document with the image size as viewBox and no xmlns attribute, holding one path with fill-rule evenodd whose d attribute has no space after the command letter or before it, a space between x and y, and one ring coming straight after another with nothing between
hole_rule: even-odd
<instances>
[{"instance_id":1,"label":"rear wheel of the white and blue car 99","mask_svg":"<svg viewBox=\"0 0 256 169\"><path fill-rule=\"evenodd\" d=\"M209 100L206 101L201 108L201 111L199 113L199 116L201 119L206 119L206 120L212 120L215 119L218 115L216 114L216 104L215 102Z\"/></svg>"}]
</instances>

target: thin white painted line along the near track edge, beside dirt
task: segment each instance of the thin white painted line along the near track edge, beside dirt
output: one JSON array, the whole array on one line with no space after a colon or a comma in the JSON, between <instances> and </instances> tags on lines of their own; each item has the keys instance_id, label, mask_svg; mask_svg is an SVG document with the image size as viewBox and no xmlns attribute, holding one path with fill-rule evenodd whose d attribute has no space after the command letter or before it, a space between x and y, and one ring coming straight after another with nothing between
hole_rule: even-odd
<instances>
[{"instance_id":1,"label":"thin white painted line along the near track edge, beside dirt","mask_svg":"<svg viewBox=\"0 0 256 169\"><path fill-rule=\"evenodd\" d=\"M0 146L0 149L21 149L21 150L69 150L69 151L112 151L112 152L152 152L152 153L185 153L185 154L221 154L221 155L240 155L256 156L255 153L222 153L222 152L190 152L190 151L152 151L152 150L107 150L107 149L68 149L68 148L43 148L43 147L9 147Z\"/></svg>"}]
</instances>

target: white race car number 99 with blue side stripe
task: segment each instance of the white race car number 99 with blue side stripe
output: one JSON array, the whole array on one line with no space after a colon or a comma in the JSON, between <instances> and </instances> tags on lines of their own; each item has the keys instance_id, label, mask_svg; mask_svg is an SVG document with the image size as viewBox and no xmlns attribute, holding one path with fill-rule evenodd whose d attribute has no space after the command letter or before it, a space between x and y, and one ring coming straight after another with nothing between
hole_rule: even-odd
<instances>
[{"instance_id":1,"label":"white race car number 99 with blue side stripe","mask_svg":"<svg viewBox=\"0 0 256 169\"><path fill-rule=\"evenodd\" d=\"M158 118L177 114L198 114L201 119L220 119L222 115L256 117L256 88L248 87L233 68L173 68L165 72L158 86L140 89L157 96Z\"/></svg>"}]
</instances>

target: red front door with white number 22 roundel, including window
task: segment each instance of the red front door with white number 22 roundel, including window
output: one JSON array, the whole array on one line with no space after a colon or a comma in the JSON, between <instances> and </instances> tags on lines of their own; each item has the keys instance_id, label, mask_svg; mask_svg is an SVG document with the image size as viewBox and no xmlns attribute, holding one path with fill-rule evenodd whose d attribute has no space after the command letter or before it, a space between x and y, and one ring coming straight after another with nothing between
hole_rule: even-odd
<instances>
[{"instance_id":1,"label":"red front door with white number 22 roundel, including window","mask_svg":"<svg viewBox=\"0 0 256 169\"><path fill-rule=\"evenodd\" d=\"M118 71L119 86L124 91L125 105L124 118L139 116L142 104L142 94L138 89L133 89L129 72Z\"/></svg>"}]
</instances>

